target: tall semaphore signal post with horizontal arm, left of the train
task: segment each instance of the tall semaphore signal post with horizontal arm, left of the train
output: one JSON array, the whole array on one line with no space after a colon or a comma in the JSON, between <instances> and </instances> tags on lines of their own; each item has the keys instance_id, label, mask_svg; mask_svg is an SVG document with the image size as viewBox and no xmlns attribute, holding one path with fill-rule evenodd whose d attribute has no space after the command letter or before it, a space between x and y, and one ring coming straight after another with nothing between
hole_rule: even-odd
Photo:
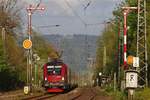
<instances>
[{"instance_id":1,"label":"tall semaphore signal post with horizontal arm, left of the train","mask_svg":"<svg viewBox=\"0 0 150 100\"><path fill-rule=\"evenodd\" d=\"M32 14L36 10L44 10L44 7L39 7L40 3L33 7L32 5L29 5L27 8L28 13L28 39L31 41L31 34L32 34ZM27 85L29 86L29 91L32 91L32 48L28 49L28 55L27 55Z\"/></svg>"}]
</instances>

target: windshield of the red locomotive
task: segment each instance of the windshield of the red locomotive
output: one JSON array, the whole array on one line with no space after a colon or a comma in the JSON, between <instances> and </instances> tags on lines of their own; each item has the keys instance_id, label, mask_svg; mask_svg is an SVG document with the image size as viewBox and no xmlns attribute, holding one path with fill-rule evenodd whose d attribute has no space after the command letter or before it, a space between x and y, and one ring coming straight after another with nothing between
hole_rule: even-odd
<instances>
[{"instance_id":1,"label":"windshield of the red locomotive","mask_svg":"<svg viewBox=\"0 0 150 100\"><path fill-rule=\"evenodd\" d=\"M49 75L60 75L61 66L47 66L47 73Z\"/></svg>"}]
</instances>

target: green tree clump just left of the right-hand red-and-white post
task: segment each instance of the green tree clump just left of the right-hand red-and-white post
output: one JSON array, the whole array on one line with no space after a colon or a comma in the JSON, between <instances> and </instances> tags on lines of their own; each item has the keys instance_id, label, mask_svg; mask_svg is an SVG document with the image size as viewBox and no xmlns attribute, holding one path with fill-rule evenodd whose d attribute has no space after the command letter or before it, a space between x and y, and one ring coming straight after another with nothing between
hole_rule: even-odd
<instances>
[{"instance_id":1,"label":"green tree clump just left of the right-hand red-and-white post","mask_svg":"<svg viewBox=\"0 0 150 100\"><path fill-rule=\"evenodd\" d=\"M97 48L97 70L101 69L106 75L110 75L115 71L117 65L117 32L115 25L108 24L106 30L103 32L100 40L98 41ZM106 66L104 64L104 46L106 47Z\"/></svg>"}]
</instances>

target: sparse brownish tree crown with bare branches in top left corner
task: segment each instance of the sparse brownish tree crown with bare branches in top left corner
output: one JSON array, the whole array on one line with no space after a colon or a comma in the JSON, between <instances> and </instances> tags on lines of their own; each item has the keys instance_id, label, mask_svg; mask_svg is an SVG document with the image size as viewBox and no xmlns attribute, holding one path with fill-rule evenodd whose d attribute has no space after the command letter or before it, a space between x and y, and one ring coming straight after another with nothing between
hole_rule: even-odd
<instances>
[{"instance_id":1,"label":"sparse brownish tree crown with bare branches in top left corner","mask_svg":"<svg viewBox=\"0 0 150 100\"><path fill-rule=\"evenodd\" d=\"M1 0L0 1L0 26L7 28L7 31L13 32L20 28L21 17L20 7L17 5L19 0ZM14 34L11 34L14 35Z\"/></svg>"}]
</instances>

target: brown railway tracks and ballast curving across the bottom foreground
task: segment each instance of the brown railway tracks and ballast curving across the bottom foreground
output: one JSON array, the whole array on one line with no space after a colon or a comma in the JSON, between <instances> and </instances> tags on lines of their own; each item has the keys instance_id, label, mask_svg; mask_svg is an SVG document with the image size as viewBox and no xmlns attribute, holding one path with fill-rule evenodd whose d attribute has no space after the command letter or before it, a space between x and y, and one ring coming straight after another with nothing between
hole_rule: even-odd
<instances>
[{"instance_id":1,"label":"brown railway tracks and ballast curving across the bottom foreground","mask_svg":"<svg viewBox=\"0 0 150 100\"><path fill-rule=\"evenodd\" d=\"M18 92L17 92L18 93ZM98 88L77 88L68 93L49 94L47 92L37 92L33 95L9 94L0 96L0 100L113 100L103 94Z\"/></svg>"}]
</instances>

